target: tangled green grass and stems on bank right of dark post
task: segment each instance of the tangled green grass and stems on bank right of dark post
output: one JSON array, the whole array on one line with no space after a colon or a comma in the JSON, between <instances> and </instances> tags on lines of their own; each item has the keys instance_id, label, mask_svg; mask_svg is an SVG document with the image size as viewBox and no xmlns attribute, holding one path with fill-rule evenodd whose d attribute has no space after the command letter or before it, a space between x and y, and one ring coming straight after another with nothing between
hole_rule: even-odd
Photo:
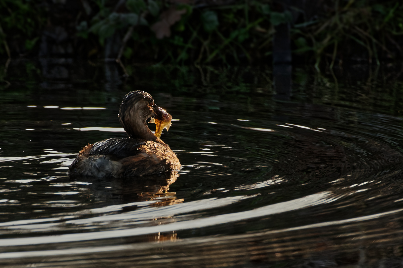
<instances>
[{"instance_id":1,"label":"tangled green grass and stems on bank right of dark post","mask_svg":"<svg viewBox=\"0 0 403 268\"><path fill-rule=\"evenodd\" d=\"M312 51L316 66L324 59L330 67L351 51L355 57L377 64L380 58L402 56L403 5L396 1L333 2L334 8L326 16L294 25L295 53Z\"/></svg>"}]
</instances>

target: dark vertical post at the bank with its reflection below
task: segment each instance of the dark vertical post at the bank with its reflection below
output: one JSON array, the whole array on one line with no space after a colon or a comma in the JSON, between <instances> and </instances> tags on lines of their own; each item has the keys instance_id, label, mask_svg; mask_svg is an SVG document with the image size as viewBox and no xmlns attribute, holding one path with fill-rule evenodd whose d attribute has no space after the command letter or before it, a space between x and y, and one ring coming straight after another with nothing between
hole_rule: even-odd
<instances>
[{"instance_id":1,"label":"dark vertical post at the bank with its reflection below","mask_svg":"<svg viewBox=\"0 0 403 268\"><path fill-rule=\"evenodd\" d=\"M285 12L291 0L274 4L277 12ZM277 100L290 100L291 97L291 39L290 22L274 27L276 33L273 37L273 84Z\"/></svg>"}]
</instances>

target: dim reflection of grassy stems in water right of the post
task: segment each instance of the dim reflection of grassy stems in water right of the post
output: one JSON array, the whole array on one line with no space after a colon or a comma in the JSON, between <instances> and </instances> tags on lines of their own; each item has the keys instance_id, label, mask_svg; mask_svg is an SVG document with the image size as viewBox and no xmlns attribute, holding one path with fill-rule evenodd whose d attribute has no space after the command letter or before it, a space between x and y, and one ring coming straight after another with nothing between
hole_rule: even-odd
<instances>
[{"instance_id":1,"label":"dim reflection of grassy stems in water right of the post","mask_svg":"<svg viewBox=\"0 0 403 268\"><path fill-rule=\"evenodd\" d=\"M336 73L338 78L321 73L309 75L306 69L296 69L293 97L301 102L376 110L400 116L403 109L400 75L394 70L364 64Z\"/></svg>"}]
</instances>

